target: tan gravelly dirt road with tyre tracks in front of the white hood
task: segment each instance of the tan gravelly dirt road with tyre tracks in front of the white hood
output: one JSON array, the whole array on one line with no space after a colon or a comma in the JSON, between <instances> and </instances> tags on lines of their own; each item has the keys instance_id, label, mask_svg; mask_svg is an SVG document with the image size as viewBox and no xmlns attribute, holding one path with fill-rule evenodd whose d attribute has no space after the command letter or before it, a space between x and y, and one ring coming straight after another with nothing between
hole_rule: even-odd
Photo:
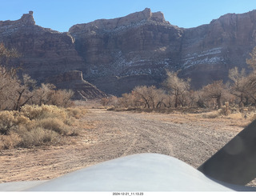
<instances>
[{"instance_id":1,"label":"tan gravelly dirt road with tyre tracks in front of the white hood","mask_svg":"<svg viewBox=\"0 0 256 196\"><path fill-rule=\"evenodd\" d=\"M0 182L44 180L113 158L168 154L197 168L242 127L219 119L90 109L69 145L0 151ZM79 126L82 127L82 126Z\"/></svg>"}]
</instances>

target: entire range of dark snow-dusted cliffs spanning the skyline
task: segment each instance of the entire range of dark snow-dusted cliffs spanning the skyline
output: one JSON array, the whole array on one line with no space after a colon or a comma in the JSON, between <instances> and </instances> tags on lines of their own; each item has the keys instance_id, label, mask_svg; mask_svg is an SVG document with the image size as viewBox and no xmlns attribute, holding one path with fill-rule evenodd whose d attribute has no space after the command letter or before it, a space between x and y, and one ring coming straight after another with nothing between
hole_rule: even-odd
<instances>
[{"instance_id":1,"label":"entire range of dark snow-dusted cliffs spanning the skyline","mask_svg":"<svg viewBox=\"0 0 256 196\"><path fill-rule=\"evenodd\" d=\"M256 46L256 10L185 29L146 8L74 25L68 33L35 25L30 11L17 21L0 21L0 42L20 51L23 70L39 82L80 70L99 90L121 95L139 85L160 86L168 69L181 70L197 89L227 81L234 66L247 68Z\"/></svg>"}]
</instances>

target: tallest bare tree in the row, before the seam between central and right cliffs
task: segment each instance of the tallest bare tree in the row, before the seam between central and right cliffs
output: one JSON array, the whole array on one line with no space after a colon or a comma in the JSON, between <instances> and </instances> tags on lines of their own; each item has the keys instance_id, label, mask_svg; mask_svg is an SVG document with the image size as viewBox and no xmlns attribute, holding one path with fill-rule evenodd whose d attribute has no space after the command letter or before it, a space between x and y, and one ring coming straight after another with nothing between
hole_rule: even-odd
<instances>
[{"instance_id":1,"label":"tallest bare tree in the row, before the seam between central and right cliffs","mask_svg":"<svg viewBox=\"0 0 256 196\"><path fill-rule=\"evenodd\" d=\"M179 100L182 99L182 95L190 90L191 79L178 78L178 72L166 71L167 78L162 83L166 91L174 96L174 107L178 107Z\"/></svg>"}]
</instances>

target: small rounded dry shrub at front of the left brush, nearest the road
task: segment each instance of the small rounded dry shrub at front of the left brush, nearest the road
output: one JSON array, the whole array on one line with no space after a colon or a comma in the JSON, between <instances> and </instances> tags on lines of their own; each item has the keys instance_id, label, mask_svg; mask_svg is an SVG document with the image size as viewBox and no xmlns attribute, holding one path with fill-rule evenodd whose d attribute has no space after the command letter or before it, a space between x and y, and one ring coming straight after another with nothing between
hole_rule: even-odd
<instances>
[{"instance_id":1,"label":"small rounded dry shrub at front of the left brush, nearest the road","mask_svg":"<svg viewBox=\"0 0 256 196\"><path fill-rule=\"evenodd\" d=\"M22 147L41 146L46 143L55 142L57 137L58 134L53 130L44 130L42 127L35 127L22 134L22 141L19 145Z\"/></svg>"}]
</instances>

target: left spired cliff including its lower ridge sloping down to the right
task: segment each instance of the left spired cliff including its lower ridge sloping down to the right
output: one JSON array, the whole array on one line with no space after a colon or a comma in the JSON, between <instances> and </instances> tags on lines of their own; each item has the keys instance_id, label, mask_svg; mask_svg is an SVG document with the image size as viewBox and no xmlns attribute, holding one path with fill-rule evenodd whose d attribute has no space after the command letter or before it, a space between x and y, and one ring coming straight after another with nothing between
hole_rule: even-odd
<instances>
[{"instance_id":1,"label":"left spired cliff including its lower ridge sloping down to the right","mask_svg":"<svg viewBox=\"0 0 256 196\"><path fill-rule=\"evenodd\" d=\"M80 70L84 62L74 48L74 38L69 33L35 25L32 11L17 21L0 22L0 42L22 54L15 63L38 83L52 82L59 89L74 90L75 99L106 96L83 80L81 71L75 71Z\"/></svg>"}]
</instances>

